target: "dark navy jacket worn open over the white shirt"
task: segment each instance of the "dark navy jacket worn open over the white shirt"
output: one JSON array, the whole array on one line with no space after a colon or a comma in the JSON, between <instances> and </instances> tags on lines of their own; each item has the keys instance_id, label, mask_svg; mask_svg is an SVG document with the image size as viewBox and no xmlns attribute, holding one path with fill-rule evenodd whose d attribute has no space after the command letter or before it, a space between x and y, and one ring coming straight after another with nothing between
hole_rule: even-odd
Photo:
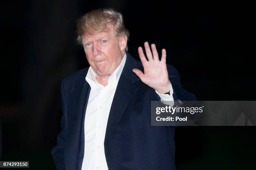
<instances>
[{"instance_id":1,"label":"dark navy jacket worn open over the white shirt","mask_svg":"<svg viewBox=\"0 0 256 170\"><path fill-rule=\"evenodd\" d=\"M143 70L128 52L105 134L105 157L109 170L175 170L174 127L151 126L151 101L160 100L155 90L132 72ZM174 100L196 100L182 89L179 73L167 65ZM61 82L61 132L51 153L58 170L81 170L84 157L84 117L90 95L85 80L88 68Z\"/></svg>"}]
</instances>

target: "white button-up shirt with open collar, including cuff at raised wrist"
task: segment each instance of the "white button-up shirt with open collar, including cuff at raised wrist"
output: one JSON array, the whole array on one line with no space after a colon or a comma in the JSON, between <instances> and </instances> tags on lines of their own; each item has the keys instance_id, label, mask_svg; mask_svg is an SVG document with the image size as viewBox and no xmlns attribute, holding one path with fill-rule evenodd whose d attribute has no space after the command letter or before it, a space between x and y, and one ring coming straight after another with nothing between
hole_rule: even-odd
<instances>
[{"instance_id":1,"label":"white button-up shirt with open collar, including cuff at raised wrist","mask_svg":"<svg viewBox=\"0 0 256 170\"><path fill-rule=\"evenodd\" d=\"M96 73L92 70L92 67L89 67L85 77L85 80L91 87L91 91L84 120L84 159L82 170L108 170L104 150L105 133L110 107L125 61L126 54L120 65L108 78L108 83L105 86L97 82ZM173 101L172 87L170 95L156 93L161 97L161 101Z\"/></svg>"}]
</instances>

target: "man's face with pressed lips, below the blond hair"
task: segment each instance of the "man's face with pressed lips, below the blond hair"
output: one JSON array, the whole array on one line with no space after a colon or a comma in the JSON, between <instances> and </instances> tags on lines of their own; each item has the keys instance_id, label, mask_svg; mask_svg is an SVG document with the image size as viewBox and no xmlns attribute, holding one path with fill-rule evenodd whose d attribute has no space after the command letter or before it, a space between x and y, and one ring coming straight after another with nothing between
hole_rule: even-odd
<instances>
[{"instance_id":1,"label":"man's face with pressed lips, below the blond hair","mask_svg":"<svg viewBox=\"0 0 256 170\"><path fill-rule=\"evenodd\" d=\"M111 75L120 64L125 52L126 39L116 37L111 26L107 31L83 36L82 43L92 69L97 75L105 76Z\"/></svg>"}]
</instances>

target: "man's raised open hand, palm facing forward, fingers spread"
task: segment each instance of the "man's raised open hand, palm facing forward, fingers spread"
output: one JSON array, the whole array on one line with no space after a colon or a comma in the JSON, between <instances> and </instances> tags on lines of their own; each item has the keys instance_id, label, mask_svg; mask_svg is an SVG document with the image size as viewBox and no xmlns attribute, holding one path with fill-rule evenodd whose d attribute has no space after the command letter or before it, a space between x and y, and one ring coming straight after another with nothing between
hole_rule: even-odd
<instances>
[{"instance_id":1,"label":"man's raised open hand, palm facing forward, fingers spread","mask_svg":"<svg viewBox=\"0 0 256 170\"><path fill-rule=\"evenodd\" d=\"M138 53L144 68L144 73L136 68L133 72L141 79L143 83L152 87L160 94L164 94L171 90L171 84L169 82L168 71L166 67L166 50L162 49L161 61L159 60L156 45L151 44L152 52L148 42L144 43L146 50L146 59L142 47L138 47Z\"/></svg>"}]
</instances>

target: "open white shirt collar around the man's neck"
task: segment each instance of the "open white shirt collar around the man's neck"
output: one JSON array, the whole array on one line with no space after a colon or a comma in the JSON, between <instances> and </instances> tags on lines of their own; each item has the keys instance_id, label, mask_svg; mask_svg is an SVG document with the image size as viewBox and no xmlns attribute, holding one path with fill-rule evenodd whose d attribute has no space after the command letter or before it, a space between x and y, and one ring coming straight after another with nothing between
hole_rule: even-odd
<instances>
[{"instance_id":1,"label":"open white shirt collar around the man's neck","mask_svg":"<svg viewBox=\"0 0 256 170\"><path fill-rule=\"evenodd\" d=\"M113 83L118 83L118 80L121 76L121 73L123 71L123 67L125 65L125 61L126 61L126 53L122 59L122 61L120 62L120 64L118 65L118 67L115 69L115 71L108 77L108 85L113 84ZM94 70L92 70L92 67L90 66L87 72L87 75L85 77L85 80L89 83L90 87L92 89L95 88L99 88L101 89L102 87L104 87L103 85L101 85L100 83L97 82L96 80L96 72Z\"/></svg>"}]
</instances>

